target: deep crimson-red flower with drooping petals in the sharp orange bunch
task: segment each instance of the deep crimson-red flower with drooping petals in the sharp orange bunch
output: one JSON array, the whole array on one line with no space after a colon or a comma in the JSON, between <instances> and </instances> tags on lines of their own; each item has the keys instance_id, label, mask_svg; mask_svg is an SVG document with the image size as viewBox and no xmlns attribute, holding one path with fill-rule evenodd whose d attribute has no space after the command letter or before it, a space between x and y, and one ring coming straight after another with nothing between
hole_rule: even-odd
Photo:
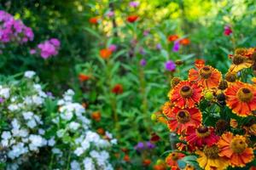
<instances>
[{"instance_id":1,"label":"deep crimson-red flower with drooping petals in the sharp orange bunch","mask_svg":"<svg viewBox=\"0 0 256 170\"><path fill-rule=\"evenodd\" d=\"M213 127L188 127L185 140L188 144L202 147L205 144L212 146L218 142L219 137L214 133Z\"/></svg>"}]
</instances>

